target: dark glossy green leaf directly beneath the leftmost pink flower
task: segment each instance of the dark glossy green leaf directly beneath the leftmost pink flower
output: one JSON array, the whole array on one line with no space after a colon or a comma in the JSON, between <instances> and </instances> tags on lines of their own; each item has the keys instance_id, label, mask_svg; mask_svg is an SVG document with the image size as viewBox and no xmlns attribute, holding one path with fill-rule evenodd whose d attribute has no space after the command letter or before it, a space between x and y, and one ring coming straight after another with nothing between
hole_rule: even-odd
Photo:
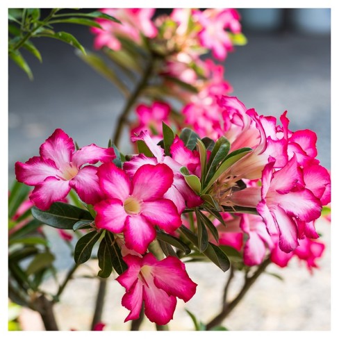
<instances>
[{"instance_id":1,"label":"dark glossy green leaf directly beneath the leftmost pink flower","mask_svg":"<svg viewBox=\"0 0 339 339\"><path fill-rule=\"evenodd\" d=\"M94 220L88 210L63 202L54 203L49 210L40 210L34 206L32 215L40 222L56 227L56 229L73 229L78 221L92 222Z\"/></svg>"}]
</instances>

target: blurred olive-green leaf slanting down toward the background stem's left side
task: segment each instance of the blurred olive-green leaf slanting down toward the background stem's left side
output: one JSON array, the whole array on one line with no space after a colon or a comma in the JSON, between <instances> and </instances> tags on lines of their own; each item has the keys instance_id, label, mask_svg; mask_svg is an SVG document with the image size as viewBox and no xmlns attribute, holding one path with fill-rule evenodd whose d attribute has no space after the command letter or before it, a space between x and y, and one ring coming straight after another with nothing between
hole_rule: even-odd
<instances>
[{"instance_id":1,"label":"blurred olive-green leaf slanting down toward the background stem's left side","mask_svg":"<svg viewBox=\"0 0 339 339\"><path fill-rule=\"evenodd\" d=\"M122 83L115 71L106 65L104 60L94 53L87 53L86 55L78 53L78 56L85 61L85 63L88 63L88 65L93 67L99 74L114 83L125 97L129 97L129 90L126 88L126 85Z\"/></svg>"}]
</instances>

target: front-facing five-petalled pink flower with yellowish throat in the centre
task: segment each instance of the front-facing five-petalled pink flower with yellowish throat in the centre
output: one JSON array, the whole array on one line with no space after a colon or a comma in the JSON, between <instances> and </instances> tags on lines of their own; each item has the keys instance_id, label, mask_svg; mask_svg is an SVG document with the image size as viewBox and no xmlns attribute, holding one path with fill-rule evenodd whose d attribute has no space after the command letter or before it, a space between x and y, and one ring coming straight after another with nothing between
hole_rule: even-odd
<instances>
[{"instance_id":1,"label":"front-facing five-petalled pink flower with yellowish throat in the centre","mask_svg":"<svg viewBox=\"0 0 339 339\"><path fill-rule=\"evenodd\" d=\"M156 238L155 226L173 232L181 226L176 206L164 199L173 183L173 172L165 164L142 165L130 181L113 163L98 169L99 185L106 199L94 206L99 229L124 233L126 246L142 254Z\"/></svg>"}]
</instances>

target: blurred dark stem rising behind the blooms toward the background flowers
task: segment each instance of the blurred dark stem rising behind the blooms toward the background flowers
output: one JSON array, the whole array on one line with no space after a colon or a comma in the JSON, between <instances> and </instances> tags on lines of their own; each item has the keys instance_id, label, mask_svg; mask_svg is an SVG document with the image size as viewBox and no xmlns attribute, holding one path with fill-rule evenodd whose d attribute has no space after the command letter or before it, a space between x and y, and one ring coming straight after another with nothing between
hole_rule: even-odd
<instances>
[{"instance_id":1,"label":"blurred dark stem rising behind the blooms toward the background flowers","mask_svg":"<svg viewBox=\"0 0 339 339\"><path fill-rule=\"evenodd\" d=\"M154 56L152 56L151 54L149 58L149 63L147 64L147 67L144 69L144 74L142 74L142 78L140 78L140 81L138 85L135 87L133 93L131 94L131 97L129 98L128 101L126 101L126 105L124 106L124 109L122 110L122 113L119 116L117 127L115 129L115 132L113 133L113 138L112 138L113 143L118 148L119 148L119 142L120 142L120 138L122 134L122 129L127 122L127 117L129 115L129 112L131 108L133 107L133 105L135 104L135 102L137 101L138 97L140 96L142 90L147 85L147 81L149 81L149 78L152 74L153 67L154 67Z\"/></svg>"}]
</instances>

